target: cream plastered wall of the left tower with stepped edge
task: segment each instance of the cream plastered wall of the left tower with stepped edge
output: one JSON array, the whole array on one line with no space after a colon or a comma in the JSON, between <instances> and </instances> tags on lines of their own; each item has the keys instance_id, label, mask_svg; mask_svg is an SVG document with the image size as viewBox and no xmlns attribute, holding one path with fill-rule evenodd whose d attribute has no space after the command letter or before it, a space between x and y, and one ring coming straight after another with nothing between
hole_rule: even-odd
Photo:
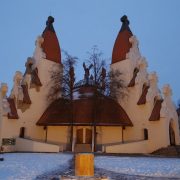
<instances>
[{"instance_id":1,"label":"cream plastered wall of the left tower with stepped edge","mask_svg":"<svg viewBox=\"0 0 180 180\"><path fill-rule=\"evenodd\" d=\"M47 100L47 95L52 82L50 78L51 72L56 70L56 68L59 68L59 64L45 59L46 56L41 48L42 42L43 38L41 36L38 37L36 40L35 52L32 58L33 68L38 68L38 76L42 86L39 87L39 90L31 88L31 75L26 74L22 77L21 72L17 72L15 74L14 86L11 94L13 93L13 97L17 100L19 98L19 87L21 87L22 83L27 84L28 93L32 103L29 108L23 112L21 109L17 109L19 119L8 119L7 113L6 116L2 116L2 113L0 113L0 140L2 140L2 138L18 137L21 127L25 127L26 138L42 141L45 140L46 131L44 130L44 127L37 126L36 123L50 103ZM16 81L17 78L18 81ZM2 97L0 97L0 102L2 104Z\"/></svg>"}]
</instances>

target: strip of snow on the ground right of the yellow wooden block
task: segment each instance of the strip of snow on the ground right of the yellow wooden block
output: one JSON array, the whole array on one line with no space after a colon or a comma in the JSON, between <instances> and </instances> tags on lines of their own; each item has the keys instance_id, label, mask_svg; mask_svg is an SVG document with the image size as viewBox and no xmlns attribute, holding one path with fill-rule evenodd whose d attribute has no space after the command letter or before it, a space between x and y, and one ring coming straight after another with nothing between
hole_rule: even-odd
<instances>
[{"instance_id":1,"label":"strip of snow on the ground right of the yellow wooden block","mask_svg":"<svg viewBox=\"0 0 180 180\"><path fill-rule=\"evenodd\" d=\"M180 158L98 156L95 164L122 174L180 179Z\"/></svg>"}]
</instances>

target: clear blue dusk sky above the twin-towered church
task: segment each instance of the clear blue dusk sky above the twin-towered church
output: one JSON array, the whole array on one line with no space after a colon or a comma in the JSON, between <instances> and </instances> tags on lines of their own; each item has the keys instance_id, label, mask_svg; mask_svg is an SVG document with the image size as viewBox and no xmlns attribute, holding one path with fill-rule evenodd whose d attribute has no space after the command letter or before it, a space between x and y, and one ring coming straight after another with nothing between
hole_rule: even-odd
<instances>
[{"instance_id":1,"label":"clear blue dusk sky above the twin-towered church","mask_svg":"<svg viewBox=\"0 0 180 180\"><path fill-rule=\"evenodd\" d=\"M17 70L24 73L27 57L33 55L35 40L41 35L49 15L61 49L77 56L76 76L87 51L97 45L107 59L128 16L130 28L139 40L148 71L156 71L159 87L170 84L173 100L180 99L180 0L0 0L0 82L12 88ZM107 62L108 64L110 61Z\"/></svg>"}]
</instances>

